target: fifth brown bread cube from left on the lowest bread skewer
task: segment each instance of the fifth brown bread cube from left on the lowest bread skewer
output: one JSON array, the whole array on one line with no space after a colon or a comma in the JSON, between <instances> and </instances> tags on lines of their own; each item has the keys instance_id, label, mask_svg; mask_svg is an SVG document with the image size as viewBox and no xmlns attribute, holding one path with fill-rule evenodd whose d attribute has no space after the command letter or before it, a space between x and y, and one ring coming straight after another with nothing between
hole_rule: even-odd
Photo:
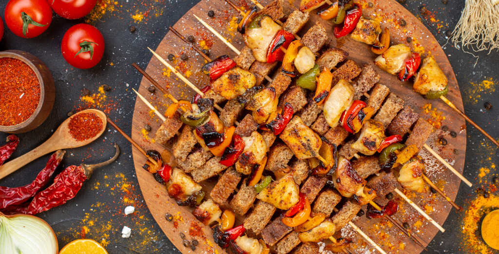
<instances>
[{"instance_id":1,"label":"fifth brown bread cube from left on the lowest bread skewer","mask_svg":"<svg viewBox=\"0 0 499 254\"><path fill-rule=\"evenodd\" d=\"M213 201L219 205L224 205L229 196L236 190L240 181L241 174L234 170L234 167L227 169L210 193Z\"/></svg>"}]
</instances>

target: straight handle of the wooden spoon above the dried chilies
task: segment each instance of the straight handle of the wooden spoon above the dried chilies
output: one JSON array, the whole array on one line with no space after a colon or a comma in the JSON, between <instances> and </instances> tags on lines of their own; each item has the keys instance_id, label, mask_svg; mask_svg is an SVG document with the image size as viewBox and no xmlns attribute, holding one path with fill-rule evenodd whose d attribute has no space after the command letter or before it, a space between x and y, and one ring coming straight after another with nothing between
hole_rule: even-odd
<instances>
[{"instance_id":1,"label":"straight handle of the wooden spoon above the dried chilies","mask_svg":"<svg viewBox=\"0 0 499 254\"><path fill-rule=\"evenodd\" d=\"M8 176L10 173L20 169L22 166L40 158L41 156L56 150L58 150L58 148L53 146L53 142L51 142L51 139L45 141L43 144L29 151L28 153L3 164L0 167L0 179Z\"/></svg>"}]
</instances>

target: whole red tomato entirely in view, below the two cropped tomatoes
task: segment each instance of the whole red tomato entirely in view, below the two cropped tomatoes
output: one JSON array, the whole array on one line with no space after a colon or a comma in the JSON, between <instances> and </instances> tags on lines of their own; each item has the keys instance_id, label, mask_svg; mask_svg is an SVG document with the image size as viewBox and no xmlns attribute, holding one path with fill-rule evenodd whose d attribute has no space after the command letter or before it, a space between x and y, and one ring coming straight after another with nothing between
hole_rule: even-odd
<instances>
[{"instance_id":1,"label":"whole red tomato entirely in view, below the two cropped tomatoes","mask_svg":"<svg viewBox=\"0 0 499 254\"><path fill-rule=\"evenodd\" d=\"M62 37L62 56L76 68L91 68L104 55L102 33L92 25L77 24L71 26Z\"/></svg>"}]
</instances>

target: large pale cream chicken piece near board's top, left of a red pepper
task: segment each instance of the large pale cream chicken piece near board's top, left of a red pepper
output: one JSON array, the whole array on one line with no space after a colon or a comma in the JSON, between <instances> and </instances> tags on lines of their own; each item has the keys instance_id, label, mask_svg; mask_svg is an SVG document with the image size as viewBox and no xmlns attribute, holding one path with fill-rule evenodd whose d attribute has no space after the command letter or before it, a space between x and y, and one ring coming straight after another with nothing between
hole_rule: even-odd
<instances>
[{"instance_id":1,"label":"large pale cream chicken piece near board's top, left of a red pepper","mask_svg":"<svg viewBox=\"0 0 499 254\"><path fill-rule=\"evenodd\" d=\"M260 19L258 20L259 27L246 29L243 38L246 45L253 51L254 58L260 62L266 62L270 43L272 43L277 32L282 30L282 27L267 15L259 15L255 17L255 19L257 18Z\"/></svg>"}]
</instances>

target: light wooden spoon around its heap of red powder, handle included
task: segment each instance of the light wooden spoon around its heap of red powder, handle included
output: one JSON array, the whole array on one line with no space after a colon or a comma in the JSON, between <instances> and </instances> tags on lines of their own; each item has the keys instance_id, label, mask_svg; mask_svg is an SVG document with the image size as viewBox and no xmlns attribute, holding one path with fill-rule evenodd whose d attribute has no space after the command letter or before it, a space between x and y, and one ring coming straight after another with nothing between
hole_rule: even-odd
<instances>
[{"instance_id":1,"label":"light wooden spoon around its heap of red powder, handle included","mask_svg":"<svg viewBox=\"0 0 499 254\"><path fill-rule=\"evenodd\" d=\"M100 130L100 132L91 139L77 141L69 133L68 124L71 118L81 113L95 113L102 120L102 130ZM15 158L14 160L11 160L8 163L3 164L3 166L0 167L0 179L6 177L10 173L20 169L22 166L34 161L35 159L45 154L57 151L59 149L76 148L90 144L92 141L96 140L100 135L102 135L102 133L104 133L107 123L106 118L106 114L97 109L83 110L70 116L68 119L62 122L62 124L59 126L59 128L57 128L54 134L52 134L52 136L43 144L29 151L28 153Z\"/></svg>"}]
</instances>

